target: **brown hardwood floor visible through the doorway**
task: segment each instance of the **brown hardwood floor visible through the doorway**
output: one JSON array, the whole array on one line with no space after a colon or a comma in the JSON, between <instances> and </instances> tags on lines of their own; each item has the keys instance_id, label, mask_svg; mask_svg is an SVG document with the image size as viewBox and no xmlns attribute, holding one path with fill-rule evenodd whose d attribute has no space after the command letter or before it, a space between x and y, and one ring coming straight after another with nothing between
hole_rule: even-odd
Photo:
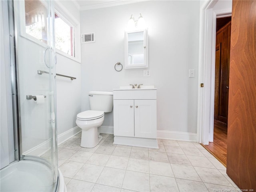
<instances>
[{"instance_id":1,"label":"brown hardwood floor visible through the doorway","mask_svg":"<svg viewBox=\"0 0 256 192\"><path fill-rule=\"evenodd\" d=\"M209 142L209 145L202 145L224 166L227 165L227 138L227 126L214 120L213 142Z\"/></svg>"}]
</instances>

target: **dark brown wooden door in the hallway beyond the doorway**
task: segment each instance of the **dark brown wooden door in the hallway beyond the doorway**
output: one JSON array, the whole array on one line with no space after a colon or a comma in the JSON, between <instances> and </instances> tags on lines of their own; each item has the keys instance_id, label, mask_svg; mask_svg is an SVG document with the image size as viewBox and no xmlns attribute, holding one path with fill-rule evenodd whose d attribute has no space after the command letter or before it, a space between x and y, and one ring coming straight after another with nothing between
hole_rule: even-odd
<instances>
[{"instance_id":1,"label":"dark brown wooden door in the hallway beyond the doorway","mask_svg":"<svg viewBox=\"0 0 256 192\"><path fill-rule=\"evenodd\" d=\"M216 33L214 118L223 123L228 119L228 88L231 21Z\"/></svg>"}]
</instances>

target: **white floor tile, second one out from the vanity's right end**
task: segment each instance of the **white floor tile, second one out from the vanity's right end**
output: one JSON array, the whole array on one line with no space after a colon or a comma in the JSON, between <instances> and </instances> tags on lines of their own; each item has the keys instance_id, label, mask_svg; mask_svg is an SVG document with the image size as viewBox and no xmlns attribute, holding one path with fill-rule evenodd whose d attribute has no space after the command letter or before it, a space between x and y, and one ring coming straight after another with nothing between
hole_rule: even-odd
<instances>
[{"instance_id":1,"label":"white floor tile, second one out from the vanity's right end","mask_svg":"<svg viewBox=\"0 0 256 192\"><path fill-rule=\"evenodd\" d=\"M170 163L149 161L149 173L174 177Z\"/></svg>"}]
</instances>

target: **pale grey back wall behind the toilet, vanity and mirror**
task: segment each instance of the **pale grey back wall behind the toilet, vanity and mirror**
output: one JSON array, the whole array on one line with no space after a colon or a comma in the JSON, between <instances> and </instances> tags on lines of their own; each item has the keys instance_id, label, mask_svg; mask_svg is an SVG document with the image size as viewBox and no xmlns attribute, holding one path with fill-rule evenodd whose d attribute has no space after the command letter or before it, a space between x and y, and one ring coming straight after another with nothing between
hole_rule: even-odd
<instances>
[{"instance_id":1,"label":"pale grey back wall behind the toilet, vanity and mirror","mask_svg":"<svg viewBox=\"0 0 256 192\"><path fill-rule=\"evenodd\" d=\"M124 29L131 14L148 25L148 69L114 70L124 64ZM128 84L155 85L157 129L196 133L199 1L145 1L80 12L81 32L95 32L95 43L82 44L82 110L90 90L112 91ZM195 69L195 78L188 78ZM103 125L113 126L113 113Z\"/></svg>"}]
</instances>

